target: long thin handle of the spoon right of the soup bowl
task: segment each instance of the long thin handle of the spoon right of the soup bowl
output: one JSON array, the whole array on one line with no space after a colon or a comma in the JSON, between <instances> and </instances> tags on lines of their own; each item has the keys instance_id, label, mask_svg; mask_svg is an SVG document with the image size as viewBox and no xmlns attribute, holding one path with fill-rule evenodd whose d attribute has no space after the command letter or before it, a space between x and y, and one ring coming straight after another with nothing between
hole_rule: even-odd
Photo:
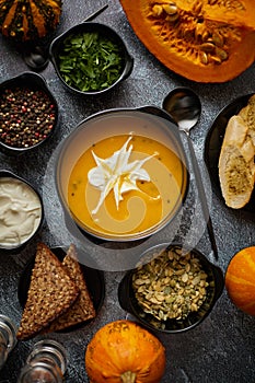
<instances>
[{"instance_id":1,"label":"long thin handle of the spoon right of the soup bowl","mask_svg":"<svg viewBox=\"0 0 255 383\"><path fill-rule=\"evenodd\" d=\"M217 244L216 244L216 236L215 236L211 217L210 217L210 212L209 212L209 208L208 208L208 204L207 204L205 187L204 187L204 184L201 181L201 173L200 173L200 170L198 166L196 153L195 153L194 146L193 146L192 139L189 137L189 134L187 131L185 131L185 134L187 136L188 149L189 149L189 153L190 153L190 158L192 158L194 176L195 176L197 188L198 188L198 195L199 195L199 198L201 201L201 209L202 209L204 218L207 222L207 230L208 230L209 239L211 242L211 247L212 247L212 251L215 253L216 259L218 259L219 255L218 255L218 248L217 248Z\"/></svg>"}]
</instances>

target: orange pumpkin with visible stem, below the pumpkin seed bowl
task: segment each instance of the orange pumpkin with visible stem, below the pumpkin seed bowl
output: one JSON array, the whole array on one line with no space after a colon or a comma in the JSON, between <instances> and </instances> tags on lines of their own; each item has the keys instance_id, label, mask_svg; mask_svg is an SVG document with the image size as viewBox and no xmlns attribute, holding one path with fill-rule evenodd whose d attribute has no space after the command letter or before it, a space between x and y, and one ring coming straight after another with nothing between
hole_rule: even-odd
<instances>
[{"instance_id":1,"label":"orange pumpkin with visible stem, below the pumpkin seed bowl","mask_svg":"<svg viewBox=\"0 0 255 383\"><path fill-rule=\"evenodd\" d=\"M115 321L89 343L85 369L91 383L158 383L165 370L165 349L135 322Z\"/></svg>"}]
</instances>

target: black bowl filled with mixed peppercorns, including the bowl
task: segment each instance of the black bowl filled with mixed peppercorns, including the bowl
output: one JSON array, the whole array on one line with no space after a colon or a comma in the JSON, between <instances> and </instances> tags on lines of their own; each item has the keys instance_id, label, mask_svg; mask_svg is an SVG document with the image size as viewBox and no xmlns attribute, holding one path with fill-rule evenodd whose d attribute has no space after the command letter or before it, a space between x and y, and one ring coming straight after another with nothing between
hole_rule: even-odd
<instances>
[{"instance_id":1,"label":"black bowl filled with mixed peppercorns, including the bowl","mask_svg":"<svg viewBox=\"0 0 255 383\"><path fill-rule=\"evenodd\" d=\"M45 79L23 72L0 83L0 150L21 154L44 144L58 124L58 105Z\"/></svg>"}]
</instances>

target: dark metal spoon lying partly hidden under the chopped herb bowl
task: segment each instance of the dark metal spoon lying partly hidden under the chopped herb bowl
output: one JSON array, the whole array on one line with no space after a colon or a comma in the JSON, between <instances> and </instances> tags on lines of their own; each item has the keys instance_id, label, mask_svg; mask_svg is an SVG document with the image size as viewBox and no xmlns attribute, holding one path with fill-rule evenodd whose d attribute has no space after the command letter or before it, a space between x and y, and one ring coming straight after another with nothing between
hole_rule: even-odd
<instances>
[{"instance_id":1,"label":"dark metal spoon lying partly hidden under the chopped herb bowl","mask_svg":"<svg viewBox=\"0 0 255 383\"><path fill-rule=\"evenodd\" d=\"M83 23L94 20L107 8L108 8L108 4L103 5L97 11L89 15L85 20L83 20ZM49 62L48 47L49 47L49 44L47 43L40 44L40 45L34 44L34 43L27 43L24 46L24 50L23 50L23 60L25 61L27 67L30 67L35 71L40 71L45 69Z\"/></svg>"}]
</instances>

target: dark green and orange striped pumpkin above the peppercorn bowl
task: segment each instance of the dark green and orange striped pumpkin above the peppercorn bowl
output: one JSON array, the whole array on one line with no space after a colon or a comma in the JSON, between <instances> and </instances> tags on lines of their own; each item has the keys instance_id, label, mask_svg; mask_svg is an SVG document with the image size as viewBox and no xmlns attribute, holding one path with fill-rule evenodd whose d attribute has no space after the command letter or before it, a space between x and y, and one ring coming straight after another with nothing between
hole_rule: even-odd
<instances>
[{"instance_id":1,"label":"dark green and orange striped pumpkin above the peppercorn bowl","mask_svg":"<svg viewBox=\"0 0 255 383\"><path fill-rule=\"evenodd\" d=\"M62 0L0 0L0 31L19 42L36 40L53 32Z\"/></svg>"}]
</instances>

